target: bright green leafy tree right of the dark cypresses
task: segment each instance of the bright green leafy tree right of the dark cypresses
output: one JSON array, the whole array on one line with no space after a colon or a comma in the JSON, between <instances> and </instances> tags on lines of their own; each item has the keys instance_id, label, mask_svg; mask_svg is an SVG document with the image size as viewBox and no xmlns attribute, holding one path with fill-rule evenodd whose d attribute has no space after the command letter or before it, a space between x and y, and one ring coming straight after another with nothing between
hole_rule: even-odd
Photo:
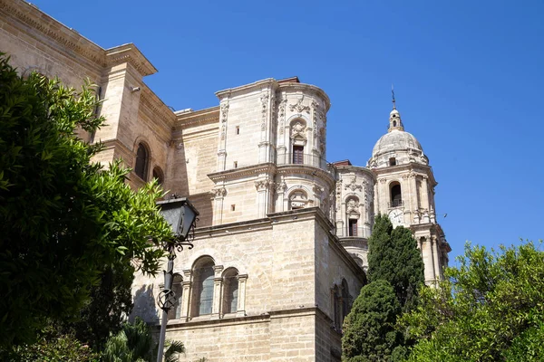
<instances>
[{"instance_id":1,"label":"bright green leafy tree right of the dark cypresses","mask_svg":"<svg viewBox=\"0 0 544 362\"><path fill-rule=\"evenodd\" d=\"M544 360L544 252L467 244L459 262L401 319L419 338L409 360Z\"/></svg>"}]
</instances>

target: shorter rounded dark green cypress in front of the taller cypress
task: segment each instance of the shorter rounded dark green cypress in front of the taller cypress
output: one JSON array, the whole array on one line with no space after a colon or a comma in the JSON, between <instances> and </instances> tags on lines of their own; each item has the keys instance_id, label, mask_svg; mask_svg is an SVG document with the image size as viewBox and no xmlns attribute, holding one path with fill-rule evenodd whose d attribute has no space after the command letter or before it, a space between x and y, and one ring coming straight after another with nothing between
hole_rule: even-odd
<instances>
[{"instance_id":1,"label":"shorter rounded dark green cypress in front of the taller cypress","mask_svg":"<svg viewBox=\"0 0 544 362\"><path fill-rule=\"evenodd\" d=\"M378 280L363 287L344 321L343 360L390 360L402 342L394 329L401 305L388 281Z\"/></svg>"}]
</instances>

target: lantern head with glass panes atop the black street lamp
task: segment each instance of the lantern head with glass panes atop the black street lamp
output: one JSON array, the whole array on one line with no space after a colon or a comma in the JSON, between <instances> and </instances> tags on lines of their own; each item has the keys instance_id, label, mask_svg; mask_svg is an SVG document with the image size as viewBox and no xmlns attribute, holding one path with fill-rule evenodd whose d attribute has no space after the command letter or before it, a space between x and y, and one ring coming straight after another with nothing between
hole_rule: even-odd
<instances>
[{"instance_id":1,"label":"lantern head with glass panes atop the black street lamp","mask_svg":"<svg viewBox=\"0 0 544 362\"><path fill-rule=\"evenodd\" d=\"M195 222L199 212L190 204L185 197L159 201L160 214L166 219L172 227L172 232L176 235L187 237L191 225Z\"/></svg>"}]
</instances>

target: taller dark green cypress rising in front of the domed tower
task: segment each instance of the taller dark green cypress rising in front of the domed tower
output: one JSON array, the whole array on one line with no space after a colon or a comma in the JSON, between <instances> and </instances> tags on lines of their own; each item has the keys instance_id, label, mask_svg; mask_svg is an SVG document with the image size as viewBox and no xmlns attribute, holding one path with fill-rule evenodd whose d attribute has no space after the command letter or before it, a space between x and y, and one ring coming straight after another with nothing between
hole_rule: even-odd
<instances>
[{"instance_id":1,"label":"taller dark green cypress rising in front of the domed tower","mask_svg":"<svg viewBox=\"0 0 544 362\"><path fill-rule=\"evenodd\" d=\"M422 256L410 229L393 229L389 217L378 215L368 250L368 280L389 281L403 310L410 310L424 282Z\"/></svg>"}]
</instances>

